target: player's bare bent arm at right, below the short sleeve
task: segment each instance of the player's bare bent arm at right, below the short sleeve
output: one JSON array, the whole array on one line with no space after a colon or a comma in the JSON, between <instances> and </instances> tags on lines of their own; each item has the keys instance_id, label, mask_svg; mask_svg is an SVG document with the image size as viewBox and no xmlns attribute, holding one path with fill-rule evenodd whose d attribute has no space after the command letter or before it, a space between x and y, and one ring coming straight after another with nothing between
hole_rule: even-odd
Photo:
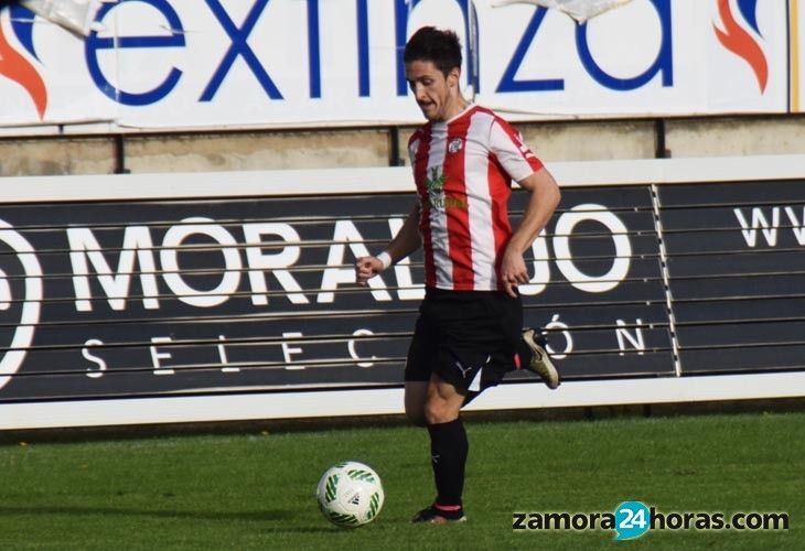
<instances>
[{"instance_id":1,"label":"player's bare bent arm at right, below the short sleeve","mask_svg":"<svg viewBox=\"0 0 805 551\"><path fill-rule=\"evenodd\" d=\"M518 184L528 191L528 204L523 220L508 241L501 264L504 289L513 298L517 296L515 288L518 284L528 283L528 270L523 255L548 223L561 198L556 180L544 166L519 180Z\"/></svg>"}]
</instances>

